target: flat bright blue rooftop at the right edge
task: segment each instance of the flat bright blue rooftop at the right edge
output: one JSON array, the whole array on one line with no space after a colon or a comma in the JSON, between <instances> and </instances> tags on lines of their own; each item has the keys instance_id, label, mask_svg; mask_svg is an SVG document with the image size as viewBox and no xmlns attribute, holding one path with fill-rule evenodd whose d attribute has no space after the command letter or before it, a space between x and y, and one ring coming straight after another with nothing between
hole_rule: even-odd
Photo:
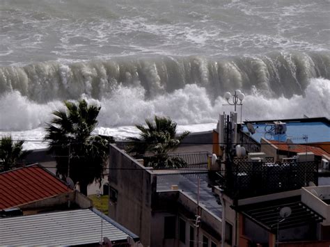
<instances>
[{"instance_id":1,"label":"flat bright blue rooftop at the right edge","mask_svg":"<svg viewBox=\"0 0 330 247\"><path fill-rule=\"evenodd\" d=\"M281 121L286 124L285 134L274 134L272 126L274 121ZM246 127L248 122L244 122L243 131L249 132ZM287 141L292 143L324 143L330 142L330 120L327 118L303 118L286 120L249 121L256 129L251 137L260 143L260 139L274 141Z\"/></svg>"}]
</instances>

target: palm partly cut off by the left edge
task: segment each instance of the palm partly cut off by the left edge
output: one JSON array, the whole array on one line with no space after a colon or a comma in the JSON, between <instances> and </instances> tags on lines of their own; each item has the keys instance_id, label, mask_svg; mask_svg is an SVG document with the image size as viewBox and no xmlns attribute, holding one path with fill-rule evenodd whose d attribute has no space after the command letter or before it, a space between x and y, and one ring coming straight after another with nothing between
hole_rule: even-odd
<instances>
[{"instance_id":1,"label":"palm partly cut off by the left edge","mask_svg":"<svg viewBox=\"0 0 330 247\"><path fill-rule=\"evenodd\" d=\"M11 170L29 151L23 150L24 141L13 141L11 136L2 136L0 140L0 164L2 171Z\"/></svg>"}]
</instances>

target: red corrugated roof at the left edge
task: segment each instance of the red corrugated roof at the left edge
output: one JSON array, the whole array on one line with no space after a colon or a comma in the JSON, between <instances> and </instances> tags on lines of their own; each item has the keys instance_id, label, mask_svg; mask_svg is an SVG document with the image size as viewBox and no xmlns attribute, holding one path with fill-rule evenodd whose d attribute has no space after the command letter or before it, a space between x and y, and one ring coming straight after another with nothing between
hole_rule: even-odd
<instances>
[{"instance_id":1,"label":"red corrugated roof at the left edge","mask_svg":"<svg viewBox=\"0 0 330 247\"><path fill-rule=\"evenodd\" d=\"M71 191L38 165L0 173L0 210Z\"/></svg>"}]
</instances>

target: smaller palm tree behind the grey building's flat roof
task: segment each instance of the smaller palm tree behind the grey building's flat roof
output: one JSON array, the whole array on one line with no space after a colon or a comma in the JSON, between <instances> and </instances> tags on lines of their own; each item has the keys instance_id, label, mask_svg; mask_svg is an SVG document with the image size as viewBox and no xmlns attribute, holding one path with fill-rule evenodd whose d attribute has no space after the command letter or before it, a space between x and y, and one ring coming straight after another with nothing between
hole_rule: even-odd
<instances>
[{"instance_id":1,"label":"smaller palm tree behind the grey building's flat roof","mask_svg":"<svg viewBox=\"0 0 330 247\"><path fill-rule=\"evenodd\" d=\"M128 138L127 152L136 158L145 154L153 154L153 157L144 157L150 166L155 168L172 167L178 168L187 164L178 158L169 158L168 152L178 148L183 138L189 132L176 136L177 124L171 118L158 117L155 115L154 122L146 119L146 126L135 125L140 130L140 138Z\"/></svg>"}]
</instances>

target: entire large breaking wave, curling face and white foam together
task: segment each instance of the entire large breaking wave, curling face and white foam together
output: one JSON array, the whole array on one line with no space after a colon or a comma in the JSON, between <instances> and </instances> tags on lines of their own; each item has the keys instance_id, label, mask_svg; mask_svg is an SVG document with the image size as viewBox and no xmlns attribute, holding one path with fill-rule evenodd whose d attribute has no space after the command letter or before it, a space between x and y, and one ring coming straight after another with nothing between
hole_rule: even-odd
<instances>
[{"instance_id":1,"label":"entire large breaking wave, curling face and white foam together","mask_svg":"<svg viewBox=\"0 0 330 247\"><path fill-rule=\"evenodd\" d=\"M102 106L100 132L155 114L179 125L216 122L219 112L231 109L223 106L224 92L235 89L246 94L243 120L329 118L329 61L327 53L279 53L226 61L162 57L1 67L0 129L42 127L63 99L81 97Z\"/></svg>"}]
</instances>

